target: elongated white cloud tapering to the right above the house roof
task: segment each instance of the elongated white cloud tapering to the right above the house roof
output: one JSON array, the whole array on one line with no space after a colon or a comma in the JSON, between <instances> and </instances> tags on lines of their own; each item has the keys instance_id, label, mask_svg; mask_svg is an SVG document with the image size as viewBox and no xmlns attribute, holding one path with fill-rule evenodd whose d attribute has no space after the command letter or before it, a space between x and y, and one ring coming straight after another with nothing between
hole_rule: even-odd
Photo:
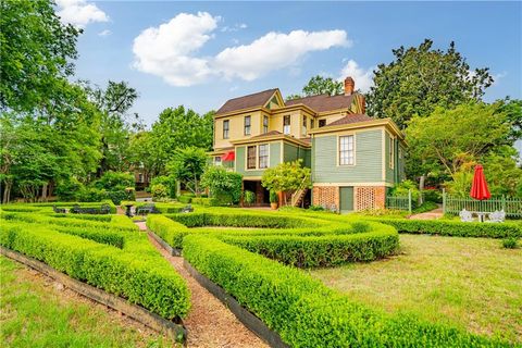
<instances>
[{"instance_id":1,"label":"elongated white cloud tapering to the right above the house roof","mask_svg":"<svg viewBox=\"0 0 522 348\"><path fill-rule=\"evenodd\" d=\"M344 30L269 33L250 45L226 48L215 57L216 67L228 78L256 79L270 71L286 67L303 54L348 46Z\"/></svg>"}]
</instances>

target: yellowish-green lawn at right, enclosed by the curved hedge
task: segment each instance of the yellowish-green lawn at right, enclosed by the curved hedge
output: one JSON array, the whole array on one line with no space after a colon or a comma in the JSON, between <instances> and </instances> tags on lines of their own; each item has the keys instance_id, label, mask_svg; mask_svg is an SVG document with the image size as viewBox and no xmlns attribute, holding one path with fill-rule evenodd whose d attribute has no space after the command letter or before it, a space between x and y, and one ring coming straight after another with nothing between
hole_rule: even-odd
<instances>
[{"instance_id":1,"label":"yellowish-green lawn at right, enclosed by the curved hedge","mask_svg":"<svg viewBox=\"0 0 522 348\"><path fill-rule=\"evenodd\" d=\"M400 235L399 254L312 271L351 298L522 343L522 250L499 240Z\"/></svg>"}]
</instances>

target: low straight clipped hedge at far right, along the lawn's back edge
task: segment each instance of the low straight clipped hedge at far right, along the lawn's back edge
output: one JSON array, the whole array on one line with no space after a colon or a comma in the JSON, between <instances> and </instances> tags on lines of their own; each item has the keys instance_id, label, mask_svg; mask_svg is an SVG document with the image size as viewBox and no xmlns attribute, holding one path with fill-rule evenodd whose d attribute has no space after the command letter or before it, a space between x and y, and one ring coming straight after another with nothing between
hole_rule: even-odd
<instances>
[{"instance_id":1,"label":"low straight clipped hedge at far right, along the lawn's back edge","mask_svg":"<svg viewBox=\"0 0 522 348\"><path fill-rule=\"evenodd\" d=\"M515 223L480 223L451 220L372 219L394 226L399 233L433 234L456 237L521 237L522 226Z\"/></svg>"}]
</instances>

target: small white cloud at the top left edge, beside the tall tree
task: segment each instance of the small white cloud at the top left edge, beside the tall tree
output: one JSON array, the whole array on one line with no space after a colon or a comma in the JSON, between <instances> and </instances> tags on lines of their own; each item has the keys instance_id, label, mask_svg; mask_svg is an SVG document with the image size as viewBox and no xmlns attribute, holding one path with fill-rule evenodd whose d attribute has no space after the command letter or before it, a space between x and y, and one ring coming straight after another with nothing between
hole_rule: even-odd
<instances>
[{"instance_id":1,"label":"small white cloud at the top left edge, beside the tall tree","mask_svg":"<svg viewBox=\"0 0 522 348\"><path fill-rule=\"evenodd\" d=\"M87 0L57 0L58 15L63 23L85 27L92 22L108 22L109 16Z\"/></svg>"}]
</instances>

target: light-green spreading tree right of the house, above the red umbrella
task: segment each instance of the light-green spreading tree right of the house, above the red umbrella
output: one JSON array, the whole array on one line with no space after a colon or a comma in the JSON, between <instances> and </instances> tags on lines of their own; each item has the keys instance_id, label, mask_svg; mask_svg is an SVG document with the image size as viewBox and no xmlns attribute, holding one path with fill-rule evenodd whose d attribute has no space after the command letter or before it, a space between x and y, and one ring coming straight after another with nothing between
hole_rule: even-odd
<instances>
[{"instance_id":1,"label":"light-green spreading tree right of the house, above the red umbrella","mask_svg":"<svg viewBox=\"0 0 522 348\"><path fill-rule=\"evenodd\" d=\"M499 147L512 145L507 141L510 127L497 104L482 102L451 110L438 107L427 117L414 116L406 129L409 174L455 179L465 163L481 161Z\"/></svg>"}]
</instances>

